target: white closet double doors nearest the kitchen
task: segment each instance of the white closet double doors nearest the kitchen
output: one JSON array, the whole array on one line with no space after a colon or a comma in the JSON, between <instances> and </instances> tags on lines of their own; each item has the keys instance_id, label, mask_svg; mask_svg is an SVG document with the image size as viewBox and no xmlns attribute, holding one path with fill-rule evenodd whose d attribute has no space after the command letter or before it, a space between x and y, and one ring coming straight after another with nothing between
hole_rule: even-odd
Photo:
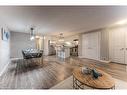
<instances>
[{"instance_id":1,"label":"white closet double doors nearest the kitchen","mask_svg":"<svg viewBox=\"0 0 127 95\"><path fill-rule=\"evenodd\" d=\"M89 59L99 59L99 32L87 33L82 39L83 57Z\"/></svg>"}]
</instances>

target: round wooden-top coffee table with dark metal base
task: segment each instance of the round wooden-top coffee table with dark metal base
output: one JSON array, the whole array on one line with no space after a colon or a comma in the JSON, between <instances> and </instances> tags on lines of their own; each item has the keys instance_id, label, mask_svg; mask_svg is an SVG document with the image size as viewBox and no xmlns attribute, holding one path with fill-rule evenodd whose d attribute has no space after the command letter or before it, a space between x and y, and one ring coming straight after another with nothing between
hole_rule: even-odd
<instances>
[{"instance_id":1,"label":"round wooden-top coffee table with dark metal base","mask_svg":"<svg viewBox=\"0 0 127 95\"><path fill-rule=\"evenodd\" d=\"M84 89L85 85L93 89L115 89L114 79L104 71L97 69L102 76L94 79L91 74L82 74L81 70L82 68L77 68L73 71L74 89Z\"/></svg>"}]
</instances>

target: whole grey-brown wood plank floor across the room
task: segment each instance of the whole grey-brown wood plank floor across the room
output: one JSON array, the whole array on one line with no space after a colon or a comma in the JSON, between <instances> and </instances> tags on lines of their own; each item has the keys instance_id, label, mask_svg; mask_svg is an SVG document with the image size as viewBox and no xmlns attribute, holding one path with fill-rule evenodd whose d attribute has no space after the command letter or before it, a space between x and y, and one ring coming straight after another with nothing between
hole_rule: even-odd
<instances>
[{"instance_id":1,"label":"whole grey-brown wood plank floor across the room","mask_svg":"<svg viewBox=\"0 0 127 95\"><path fill-rule=\"evenodd\" d=\"M48 56L44 58L43 63L37 59L13 60L0 77L0 89L49 89L71 76L74 68L91 65L117 79L127 81L125 65L76 57L59 59Z\"/></svg>"}]
</instances>

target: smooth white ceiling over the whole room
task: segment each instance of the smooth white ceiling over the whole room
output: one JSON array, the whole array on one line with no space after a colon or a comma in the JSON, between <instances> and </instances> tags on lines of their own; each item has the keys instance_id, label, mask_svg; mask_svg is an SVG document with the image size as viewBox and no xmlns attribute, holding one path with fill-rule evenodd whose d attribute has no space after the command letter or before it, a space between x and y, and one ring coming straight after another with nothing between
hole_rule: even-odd
<instances>
[{"instance_id":1,"label":"smooth white ceiling over the whole room","mask_svg":"<svg viewBox=\"0 0 127 95\"><path fill-rule=\"evenodd\" d=\"M0 6L0 23L11 31L65 36L102 28L127 19L126 6Z\"/></svg>"}]
</instances>

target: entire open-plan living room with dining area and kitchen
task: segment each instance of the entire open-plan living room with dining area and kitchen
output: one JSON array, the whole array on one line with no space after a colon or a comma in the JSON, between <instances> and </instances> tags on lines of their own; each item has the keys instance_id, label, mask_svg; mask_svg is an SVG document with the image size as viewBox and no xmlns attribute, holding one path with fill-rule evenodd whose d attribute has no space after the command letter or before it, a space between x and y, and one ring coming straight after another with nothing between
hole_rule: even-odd
<instances>
[{"instance_id":1,"label":"entire open-plan living room with dining area and kitchen","mask_svg":"<svg viewBox=\"0 0 127 95\"><path fill-rule=\"evenodd\" d=\"M126 9L0 6L0 89L127 89Z\"/></svg>"}]
</instances>

